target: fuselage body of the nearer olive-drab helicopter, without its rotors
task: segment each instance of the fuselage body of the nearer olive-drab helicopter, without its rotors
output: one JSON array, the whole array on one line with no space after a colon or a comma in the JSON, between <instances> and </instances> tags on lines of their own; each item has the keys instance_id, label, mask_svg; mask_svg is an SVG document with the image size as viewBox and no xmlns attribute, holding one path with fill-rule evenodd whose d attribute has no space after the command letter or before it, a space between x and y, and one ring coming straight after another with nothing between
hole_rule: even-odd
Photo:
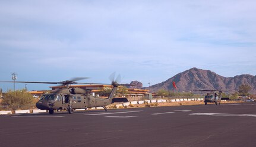
<instances>
[{"instance_id":1,"label":"fuselage body of the nearer olive-drab helicopter, without its rotors","mask_svg":"<svg viewBox=\"0 0 256 147\"><path fill-rule=\"evenodd\" d=\"M49 113L53 113L53 110L75 110L90 107L105 108L105 106L112 103L116 89L117 87L113 87L108 99L93 96L90 94L90 90L63 89L57 93L43 94L36 103L36 107L41 110L49 110Z\"/></svg>"}]
</instances>

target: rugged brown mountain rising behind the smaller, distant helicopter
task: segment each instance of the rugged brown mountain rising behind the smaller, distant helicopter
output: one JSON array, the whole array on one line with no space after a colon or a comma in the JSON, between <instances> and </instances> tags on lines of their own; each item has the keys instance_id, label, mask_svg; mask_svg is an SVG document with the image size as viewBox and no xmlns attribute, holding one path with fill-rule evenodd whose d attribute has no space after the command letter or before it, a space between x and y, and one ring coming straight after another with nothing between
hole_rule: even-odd
<instances>
[{"instance_id":1,"label":"rugged brown mountain rising behind the smaller, distant helicopter","mask_svg":"<svg viewBox=\"0 0 256 147\"><path fill-rule=\"evenodd\" d=\"M176 74L162 83L152 85L151 91L157 92L159 89L172 90L173 81L175 81L179 92L198 89L236 92L241 84L248 84L252 88L250 93L256 94L256 76L242 74L235 77L223 77L213 71L201 70L195 67Z\"/></svg>"}]
</instances>

